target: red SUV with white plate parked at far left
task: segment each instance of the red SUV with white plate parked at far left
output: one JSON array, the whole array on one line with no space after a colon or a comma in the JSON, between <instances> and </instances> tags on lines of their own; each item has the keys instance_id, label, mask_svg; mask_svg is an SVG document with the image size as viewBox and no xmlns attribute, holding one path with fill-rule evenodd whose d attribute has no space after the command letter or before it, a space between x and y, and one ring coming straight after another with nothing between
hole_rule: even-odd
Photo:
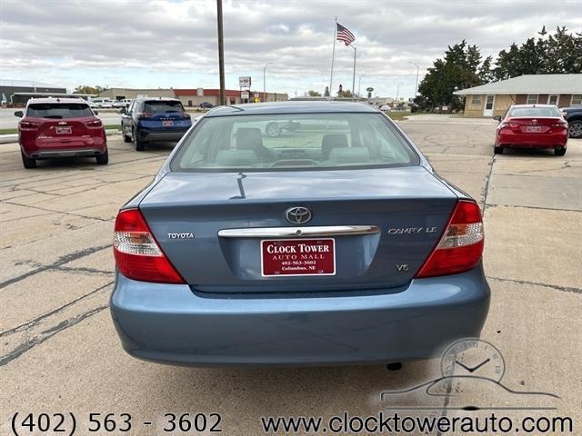
<instances>
[{"instance_id":1,"label":"red SUV with white plate parked at far left","mask_svg":"<svg viewBox=\"0 0 582 436\"><path fill-rule=\"evenodd\" d=\"M32 98L18 123L18 142L25 168L35 168L37 159L95 157L105 164L107 138L101 120L80 98Z\"/></svg>"}]
</instances>

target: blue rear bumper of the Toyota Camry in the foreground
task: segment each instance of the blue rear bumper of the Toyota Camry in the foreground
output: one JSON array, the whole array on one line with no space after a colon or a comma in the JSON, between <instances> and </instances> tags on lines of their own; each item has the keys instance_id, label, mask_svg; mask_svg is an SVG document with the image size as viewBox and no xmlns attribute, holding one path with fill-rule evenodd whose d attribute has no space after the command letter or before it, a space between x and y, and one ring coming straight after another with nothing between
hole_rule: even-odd
<instances>
[{"instance_id":1,"label":"blue rear bumper of the Toyota Camry in the foreground","mask_svg":"<svg viewBox=\"0 0 582 436\"><path fill-rule=\"evenodd\" d=\"M117 273L111 297L126 352L198 366L428 358L459 338L479 336L488 307L481 266L414 280L396 293L309 298L208 298L187 285L135 282Z\"/></svg>"}]
</instances>

